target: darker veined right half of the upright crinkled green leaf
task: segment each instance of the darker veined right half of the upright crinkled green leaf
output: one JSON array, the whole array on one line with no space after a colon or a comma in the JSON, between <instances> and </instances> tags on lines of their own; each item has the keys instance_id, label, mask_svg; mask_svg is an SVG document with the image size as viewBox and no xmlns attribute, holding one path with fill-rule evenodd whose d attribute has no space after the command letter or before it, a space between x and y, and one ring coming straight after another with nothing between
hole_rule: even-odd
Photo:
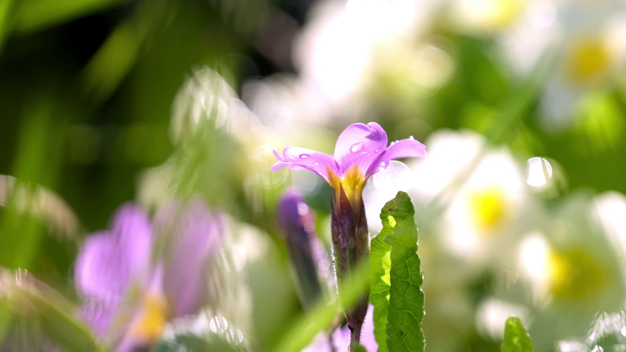
<instances>
[{"instance_id":1,"label":"darker veined right half of the upright crinkled green leaf","mask_svg":"<svg viewBox=\"0 0 626 352\"><path fill-rule=\"evenodd\" d=\"M385 204L381 219L393 227L384 241L391 245L389 307L387 308L387 350L424 351L423 272L418 256L418 227L409 195L398 192Z\"/></svg>"}]
</instances>

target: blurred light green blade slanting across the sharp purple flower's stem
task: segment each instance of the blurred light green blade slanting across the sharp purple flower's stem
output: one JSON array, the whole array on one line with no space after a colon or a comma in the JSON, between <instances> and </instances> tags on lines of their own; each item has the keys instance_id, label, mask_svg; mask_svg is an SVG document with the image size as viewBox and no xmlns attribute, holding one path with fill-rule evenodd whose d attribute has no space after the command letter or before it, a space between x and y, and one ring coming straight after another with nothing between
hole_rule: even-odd
<instances>
[{"instance_id":1,"label":"blurred light green blade slanting across the sharp purple flower's stem","mask_svg":"<svg viewBox=\"0 0 626 352\"><path fill-rule=\"evenodd\" d=\"M351 304L363 296L369 285L369 263L363 262L354 275L350 276L347 282L339 287L339 294L342 302ZM295 319L291 328L286 331L272 351L297 352L301 351L312 341L320 331L331 328L337 314L341 313L339 299L331 302L320 301L319 304L310 309L306 314L302 314Z\"/></svg>"}]
</instances>

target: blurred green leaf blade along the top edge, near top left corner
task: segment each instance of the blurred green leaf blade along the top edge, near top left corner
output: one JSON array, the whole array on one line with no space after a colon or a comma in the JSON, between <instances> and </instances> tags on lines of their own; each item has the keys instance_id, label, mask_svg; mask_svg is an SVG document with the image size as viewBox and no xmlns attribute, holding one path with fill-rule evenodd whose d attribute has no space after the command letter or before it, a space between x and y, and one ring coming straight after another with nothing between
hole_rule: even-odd
<instances>
[{"instance_id":1,"label":"blurred green leaf blade along the top edge, near top left corner","mask_svg":"<svg viewBox=\"0 0 626 352\"><path fill-rule=\"evenodd\" d=\"M125 0L20 0L13 30L31 32L123 3Z\"/></svg>"}]
</instances>

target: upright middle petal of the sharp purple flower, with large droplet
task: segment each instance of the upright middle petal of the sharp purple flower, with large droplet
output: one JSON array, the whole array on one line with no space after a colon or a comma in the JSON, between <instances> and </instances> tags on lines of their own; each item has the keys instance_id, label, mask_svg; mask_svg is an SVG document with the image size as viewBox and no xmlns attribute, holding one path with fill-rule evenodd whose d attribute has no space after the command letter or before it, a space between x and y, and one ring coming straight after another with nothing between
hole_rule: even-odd
<instances>
[{"instance_id":1,"label":"upright middle petal of the sharp purple flower, with large droplet","mask_svg":"<svg viewBox=\"0 0 626 352\"><path fill-rule=\"evenodd\" d=\"M387 133L376 122L354 123L337 138L334 158L341 175L357 165L363 174L387 147Z\"/></svg>"}]
</instances>

